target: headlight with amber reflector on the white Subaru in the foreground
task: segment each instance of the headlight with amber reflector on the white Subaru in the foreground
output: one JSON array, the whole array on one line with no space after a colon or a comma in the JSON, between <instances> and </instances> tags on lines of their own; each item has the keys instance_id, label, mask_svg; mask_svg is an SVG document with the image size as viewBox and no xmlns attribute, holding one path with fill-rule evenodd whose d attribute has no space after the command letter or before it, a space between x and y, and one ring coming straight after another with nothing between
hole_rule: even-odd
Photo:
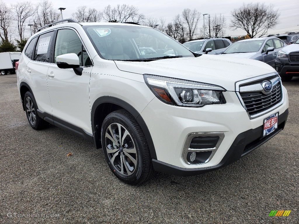
<instances>
[{"instance_id":1,"label":"headlight with amber reflector on the white Subaru in the foreground","mask_svg":"<svg viewBox=\"0 0 299 224\"><path fill-rule=\"evenodd\" d=\"M224 88L216 85L144 74L147 86L162 102L179 106L202 107L226 103Z\"/></svg>"}]
</instances>

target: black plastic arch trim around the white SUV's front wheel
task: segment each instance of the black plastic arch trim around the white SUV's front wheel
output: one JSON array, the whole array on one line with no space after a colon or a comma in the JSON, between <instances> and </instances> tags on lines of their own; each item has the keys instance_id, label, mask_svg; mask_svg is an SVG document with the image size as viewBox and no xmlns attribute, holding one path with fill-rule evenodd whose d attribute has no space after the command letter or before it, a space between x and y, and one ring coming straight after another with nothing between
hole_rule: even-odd
<instances>
[{"instance_id":1,"label":"black plastic arch trim around the white SUV's front wheel","mask_svg":"<svg viewBox=\"0 0 299 224\"><path fill-rule=\"evenodd\" d=\"M129 103L123 101L122 99L113 97L113 96L101 96L101 97L97 98L94 101L92 108L91 108L91 128L92 128L94 144L95 144L96 148L102 148L102 145L100 143L101 127L99 127L99 125L96 124L96 122L95 122L96 119L95 119L94 115L95 115L97 107L103 103L112 103L112 104L118 105L118 106L124 108L125 110L129 111L129 113L131 113L132 116L134 116L134 118L137 120L138 124L140 125L140 127L145 135L145 138L147 139L147 144L149 146L149 152L150 152L151 158L157 159L157 154L156 154L154 142L152 141L152 136L149 132L149 129L148 129L146 123L144 122L144 119L140 115L140 113Z\"/></svg>"}]
</instances>

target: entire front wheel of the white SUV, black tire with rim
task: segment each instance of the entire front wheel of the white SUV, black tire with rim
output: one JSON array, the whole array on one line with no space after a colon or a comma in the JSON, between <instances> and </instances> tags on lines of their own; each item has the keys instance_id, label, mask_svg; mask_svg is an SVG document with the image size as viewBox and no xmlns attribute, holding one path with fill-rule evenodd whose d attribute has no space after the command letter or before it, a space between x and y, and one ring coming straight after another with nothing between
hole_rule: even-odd
<instances>
[{"instance_id":1,"label":"entire front wheel of the white SUV, black tire with rim","mask_svg":"<svg viewBox=\"0 0 299 224\"><path fill-rule=\"evenodd\" d=\"M106 161L118 179L130 185L138 185L152 177L154 168L147 140L138 122L128 111L109 113L103 121L101 136ZM111 153L109 150L112 150Z\"/></svg>"}]
</instances>

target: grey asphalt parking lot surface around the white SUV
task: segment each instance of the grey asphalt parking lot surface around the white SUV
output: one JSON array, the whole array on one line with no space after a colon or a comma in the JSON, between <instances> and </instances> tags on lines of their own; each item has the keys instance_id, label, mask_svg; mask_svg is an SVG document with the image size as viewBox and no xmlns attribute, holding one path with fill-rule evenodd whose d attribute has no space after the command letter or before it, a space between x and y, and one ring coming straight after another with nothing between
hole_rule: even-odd
<instances>
[{"instance_id":1,"label":"grey asphalt parking lot surface around the white SUV","mask_svg":"<svg viewBox=\"0 0 299 224\"><path fill-rule=\"evenodd\" d=\"M217 171L129 186L92 143L54 126L33 130L16 75L0 76L0 223L299 223L299 78L284 85L289 119L268 144Z\"/></svg>"}]
</instances>

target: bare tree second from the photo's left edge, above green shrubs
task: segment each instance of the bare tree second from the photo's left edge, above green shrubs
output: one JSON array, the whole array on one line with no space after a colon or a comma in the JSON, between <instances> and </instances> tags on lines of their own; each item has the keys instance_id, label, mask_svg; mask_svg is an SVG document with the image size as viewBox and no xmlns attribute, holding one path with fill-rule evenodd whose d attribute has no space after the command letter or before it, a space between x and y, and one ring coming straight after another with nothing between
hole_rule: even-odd
<instances>
[{"instance_id":1,"label":"bare tree second from the photo's left edge, above green shrubs","mask_svg":"<svg viewBox=\"0 0 299 224\"><path fill-rule=\"evenodd\" d=\"M24 39L26 22L33 16L35 7L33 7L33 4L30 1L23 1L12 5L12 8L15 13L14 20L18 24L20 40L22 41Z\"/></svg>"}]
</instances>

